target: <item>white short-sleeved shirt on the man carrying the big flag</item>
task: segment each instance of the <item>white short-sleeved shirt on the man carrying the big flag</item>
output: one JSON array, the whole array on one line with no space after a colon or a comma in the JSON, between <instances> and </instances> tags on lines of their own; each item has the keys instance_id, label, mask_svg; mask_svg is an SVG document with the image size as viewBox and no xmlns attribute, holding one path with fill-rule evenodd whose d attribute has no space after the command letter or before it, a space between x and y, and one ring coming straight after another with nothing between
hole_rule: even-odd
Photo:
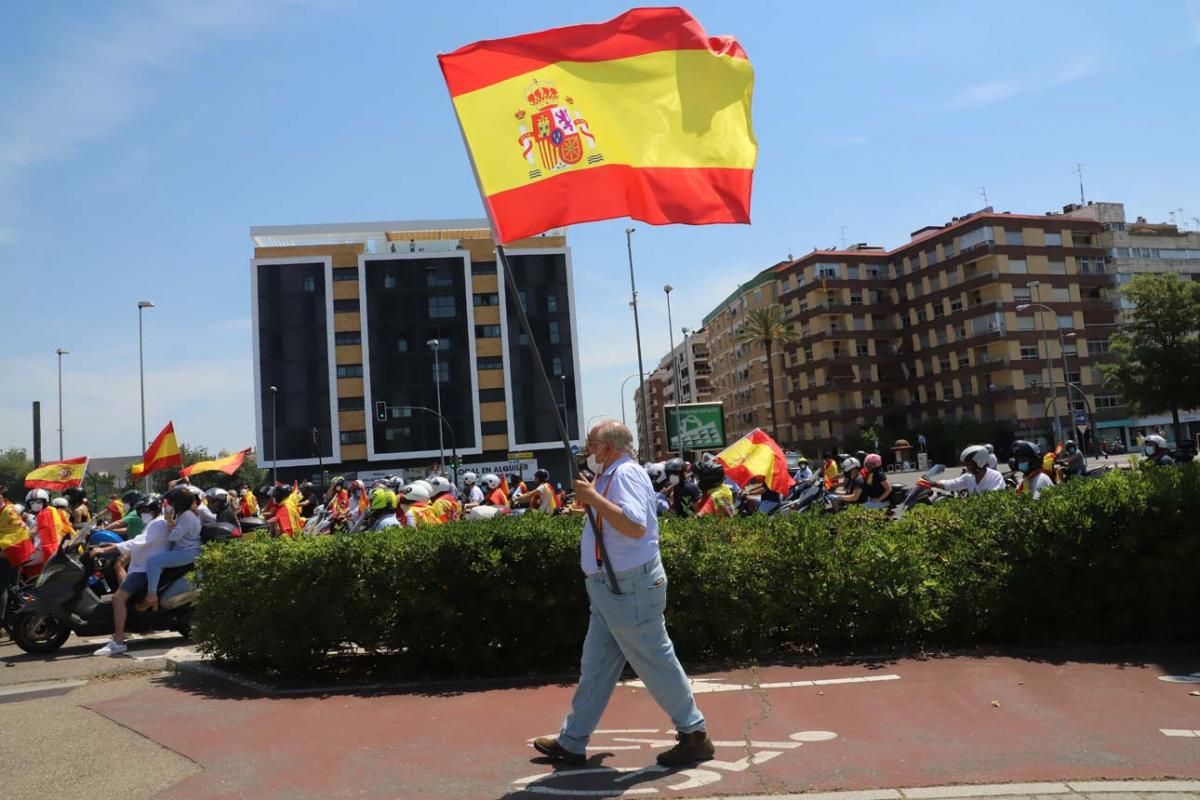
<instances>
[{"instance_id":1,"label":"white short-sleeved shirt on the man carrying the big flag","mask_svg":"<svg viewBox=\"0 0 1200 800\"><path fill-rule=\"evenodd\" d=\"M617 533L595 512L613 571L631 570L658 555L659 517L654 486L646 470L629 456L622 456L596 477L595 487L596 492L620 506L626 519L646 529L640 539L630 539ZM583 523L583 536L580 539L580 567L587 575L595 575L605 569L596 564L595 541L595 531L588 519Z\"/></svg>"}]
</instances>

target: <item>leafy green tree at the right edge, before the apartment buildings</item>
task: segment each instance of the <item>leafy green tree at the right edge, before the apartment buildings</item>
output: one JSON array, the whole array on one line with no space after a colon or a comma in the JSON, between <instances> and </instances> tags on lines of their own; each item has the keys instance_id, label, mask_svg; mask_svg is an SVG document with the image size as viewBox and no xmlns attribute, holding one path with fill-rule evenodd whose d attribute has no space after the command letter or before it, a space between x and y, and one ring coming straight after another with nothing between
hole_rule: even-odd
<instances>
[{"instance_id":1,"label":"leafy green tree at the right edge, before the apartment buildings","mask_svg":"<svg viewBox=\"0 0 1200 800\"><path fill-rule=\"evenodd\" d=\"M1145 273L1121 294L1134 308L1109 338L1116 363L1100 366L1104 381L1134 414L1170 411L1183 441L1180 410L1200 405L1200 283Z\"/></svg>"}]
</instances>

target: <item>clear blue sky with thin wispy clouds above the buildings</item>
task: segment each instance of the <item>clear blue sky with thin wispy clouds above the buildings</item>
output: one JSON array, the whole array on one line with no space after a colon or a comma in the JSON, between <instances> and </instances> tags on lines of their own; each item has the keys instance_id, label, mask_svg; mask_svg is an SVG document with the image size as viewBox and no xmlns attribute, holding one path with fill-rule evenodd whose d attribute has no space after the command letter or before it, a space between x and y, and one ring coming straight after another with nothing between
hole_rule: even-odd
<instances>
[{"instance_id":1,"label":"clear blue sky with thin wispy clouds above the buildings","mask_svg":"<svg viewBox=\"0 0 1200 800\"><path fill-rule=\"evenodd\" d=\"M434 55L628 6L370 0L4 4L0 447L30 447L67 348L66 456L138 450L146 415L253 440L250 225L482 216ZM757 270L841 240L893 247L983 205L1078 199L1200 217L1200 1L692 2L756 72L754 224L637 224L648 361ZM636 372L625 221L572 228L586 416ZM1192 227L1200 227L1189 222ZM613 272L617 270L617 272ZM630 381L632 384L632 381ZM632 404L629 402L630 417Z\"/></svg>"}]
</instances>

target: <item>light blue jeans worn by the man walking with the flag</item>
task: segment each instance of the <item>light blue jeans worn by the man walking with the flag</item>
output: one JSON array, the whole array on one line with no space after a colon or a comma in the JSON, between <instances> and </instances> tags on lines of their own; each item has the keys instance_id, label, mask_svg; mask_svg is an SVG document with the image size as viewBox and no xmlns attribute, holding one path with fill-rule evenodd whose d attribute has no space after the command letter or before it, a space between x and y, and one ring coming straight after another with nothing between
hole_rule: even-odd
<instances>
[{"instance_id":1,"label":"light blue jeans worn by the man walking with the flag","mask_svg":"<svg viewBox=\"0 0 1200 800\"><path fill-rule=\"evenodd\" d=\"M600 723L625 661L634 666L654 702L667 712L679 733L704 728L688 675L667 636L662 612L667 607L667 573L655 555L631 570L617 573L622 594L612 593L604 572L584 577L592 619L583 639L580 685L571 698L571 712L558 732L558 744L582 753Z\"/></svg>"}]
</instances>

